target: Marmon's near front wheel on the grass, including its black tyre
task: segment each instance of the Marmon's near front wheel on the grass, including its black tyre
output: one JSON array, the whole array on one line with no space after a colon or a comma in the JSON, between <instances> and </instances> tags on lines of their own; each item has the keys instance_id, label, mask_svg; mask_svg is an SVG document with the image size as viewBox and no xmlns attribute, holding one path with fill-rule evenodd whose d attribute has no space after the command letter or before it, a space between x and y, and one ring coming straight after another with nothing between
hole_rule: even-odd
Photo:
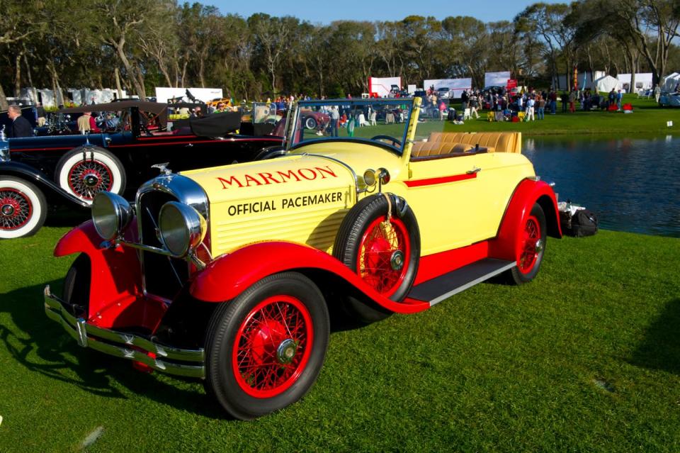
<instances>
[{"instance_id":1,"label":"Marmon's near front wheel on the grass, including its black tyre","mask_svg":"<svg viewBox=\"0 0 680 453\"><path fill-rule=\"evenodd\" d=\"M309 391L329 338L322 293L297 272L268 276L212 314L205 336L205 388L247 420L285 408Z\"/></svg>"}]
</instances>

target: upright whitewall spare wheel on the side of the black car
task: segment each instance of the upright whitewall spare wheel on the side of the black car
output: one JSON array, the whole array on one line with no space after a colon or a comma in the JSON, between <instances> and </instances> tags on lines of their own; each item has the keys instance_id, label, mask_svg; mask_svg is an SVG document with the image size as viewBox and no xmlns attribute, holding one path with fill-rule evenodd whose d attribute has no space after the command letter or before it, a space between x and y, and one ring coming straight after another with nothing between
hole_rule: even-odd
<instances>
[{"instance_id":1,"label":"upright whitewall spare wheel on the side of the black car","mask_svg":"<svg viewBox=\"0 0 680 453\"><path fill-rule=\"evenodd\" d=\"M67 152L57 164L55 180L65 191L92 202L101 191L123 194L125 169L111 152L101 147L78 147Z\"/></svg>"}]
</instances>

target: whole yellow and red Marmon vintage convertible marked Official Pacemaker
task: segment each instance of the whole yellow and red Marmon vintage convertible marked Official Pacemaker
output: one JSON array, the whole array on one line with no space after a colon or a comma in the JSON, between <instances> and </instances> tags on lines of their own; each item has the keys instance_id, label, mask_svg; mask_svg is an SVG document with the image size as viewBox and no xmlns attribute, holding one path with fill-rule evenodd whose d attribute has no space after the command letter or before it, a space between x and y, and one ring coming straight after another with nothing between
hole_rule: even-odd
<instances>
[{"instance_id":1,"label":"whole yellow and red Marmon vintage convertible marked Official Pacemaker","mask_svg":"<svg viewBox=\"0 0 680 453\"><path fill-rule=\"evenodd\" d=\"M307 101L288 118L285 152L165 169L134 205L98 194L92 220L57 244L79 257L61 297L45 288L47 315L83 347L204 379L248 419L310 389L329 308L371 322L492 276L531 281L561 231L520 134L446 133L419 106ZM305 128L303 110L329 124ZM376 111L398 113L378 123Z\"/></svg>"}]
</instances>

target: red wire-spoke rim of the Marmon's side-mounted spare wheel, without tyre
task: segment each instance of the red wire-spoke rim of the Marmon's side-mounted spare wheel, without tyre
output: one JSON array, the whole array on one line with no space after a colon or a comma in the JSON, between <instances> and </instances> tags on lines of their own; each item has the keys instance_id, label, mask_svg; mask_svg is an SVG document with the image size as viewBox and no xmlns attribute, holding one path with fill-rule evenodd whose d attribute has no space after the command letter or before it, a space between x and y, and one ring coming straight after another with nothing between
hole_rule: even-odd
<instances>
[{"instance_id":1,"label":"red wire-spoke rim of the Marmon's side-mounted spare wheel, without tyre","mask_svg":"<svg viewBox=\"0 0 680 453\"><path fill-rule=\"evenodd\" d=\"M357 255L357 271L385 297L399 289L411 257L409 233L401 219L379 216L365 229Z\"/></svg>"}]
</instances>

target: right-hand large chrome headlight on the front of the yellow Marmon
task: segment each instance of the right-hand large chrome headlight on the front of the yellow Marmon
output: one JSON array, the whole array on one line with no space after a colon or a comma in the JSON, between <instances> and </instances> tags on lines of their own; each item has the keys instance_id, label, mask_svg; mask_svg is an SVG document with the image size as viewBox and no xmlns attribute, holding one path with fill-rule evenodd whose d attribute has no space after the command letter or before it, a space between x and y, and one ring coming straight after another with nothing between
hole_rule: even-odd
<instances>
[{"instance_id":1,"label":"right-hand large chrome headlight on the front of the yellow Marmon","mask_svg":"<svg viewBox=\"0 0 680 453\"><path fill-rule=\"evenodd\" d=\"M207 224L205 218L192 208L177 201L168 201L161 208L159 232L172 256L183 258L203 242Z\"/></svg>"}]
</instances>

